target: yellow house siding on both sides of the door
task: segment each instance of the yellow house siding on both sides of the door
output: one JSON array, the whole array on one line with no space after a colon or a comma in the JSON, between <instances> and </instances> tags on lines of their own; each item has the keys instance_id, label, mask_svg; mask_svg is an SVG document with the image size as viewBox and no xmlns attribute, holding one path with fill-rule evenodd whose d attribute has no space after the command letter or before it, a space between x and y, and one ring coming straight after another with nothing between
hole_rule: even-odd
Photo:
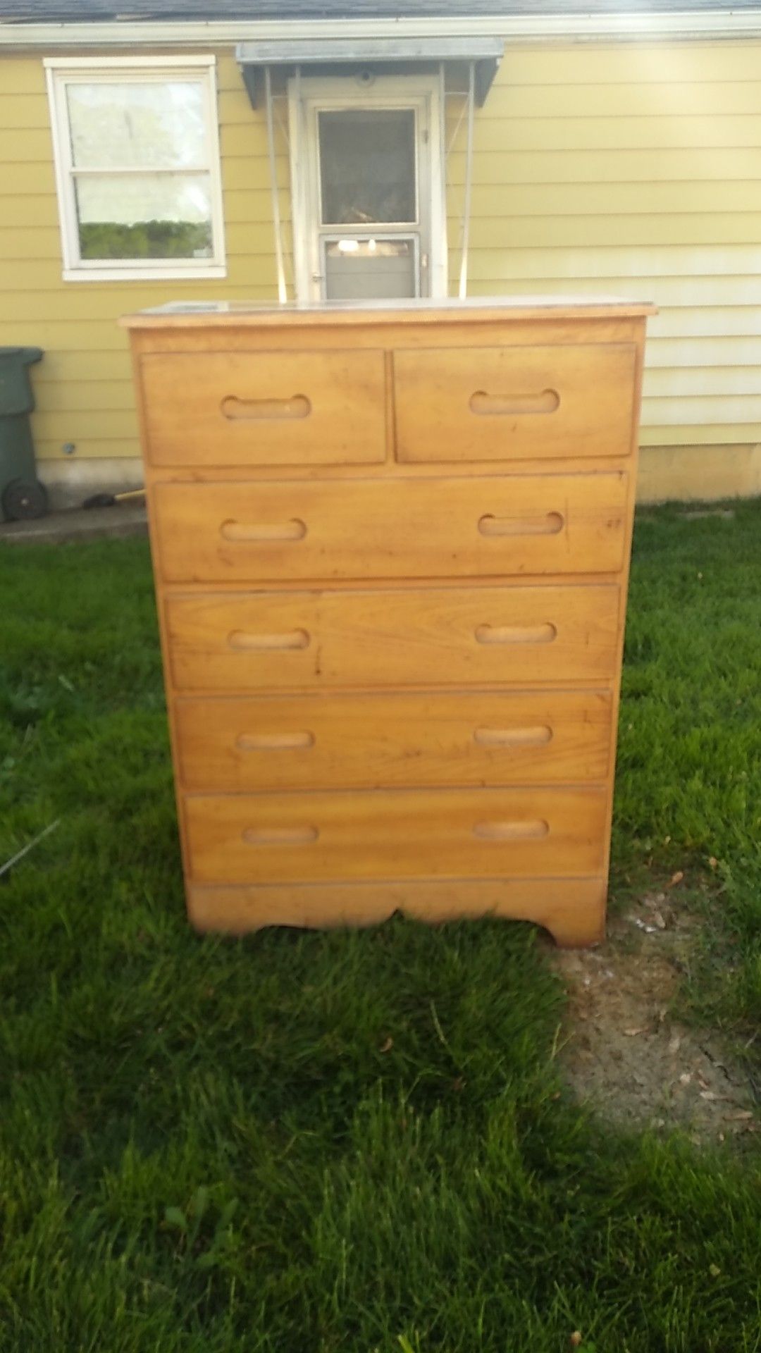
<instances>
[{"instance_id":1,"label":"yellow house siding on both sides of the door","mask_svg":"<svg viewBox=\"0 0 761 1353\"><path fill-rule=\"evenodd\" d=\"M42 58L0 58L0 341L46 349L32 375L34 434L50 472L137 455L119 314L177 299L276 298L264 118L233 53L217 55L227 276L154 283L62 281ZM283 101L276 111L291 285ZM460 112L462 99L448 97L451 291ZM645 495L678 492L680 464L684 492L761 490L761 43L508 47L477 111L474 149L470 292L654 300Z\"/></svg>"}]
</instances>

